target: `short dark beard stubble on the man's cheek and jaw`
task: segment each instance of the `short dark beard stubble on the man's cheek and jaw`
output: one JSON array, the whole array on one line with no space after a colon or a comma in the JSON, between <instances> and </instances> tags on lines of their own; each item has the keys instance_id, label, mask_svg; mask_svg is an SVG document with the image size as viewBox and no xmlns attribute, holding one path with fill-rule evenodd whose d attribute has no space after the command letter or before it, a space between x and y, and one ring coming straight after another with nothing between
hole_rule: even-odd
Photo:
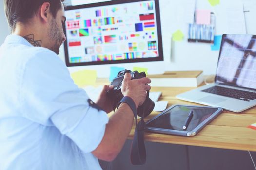
<instances>
[{"instance_id":1,"label":"short dark beard stubble on the man's cheek and jaw","mask_svg":"<svg viewBox=\"0 0 256 170\"><path fill-rule=\"evenodd\" d=\"M50 29L48 30L47 36L55 44L50 47L50 50L54 51L57 55L59 54L59 47L62 42L62 32L59 30L55 19L50 22Z\"/></svg>"}]
</instances>

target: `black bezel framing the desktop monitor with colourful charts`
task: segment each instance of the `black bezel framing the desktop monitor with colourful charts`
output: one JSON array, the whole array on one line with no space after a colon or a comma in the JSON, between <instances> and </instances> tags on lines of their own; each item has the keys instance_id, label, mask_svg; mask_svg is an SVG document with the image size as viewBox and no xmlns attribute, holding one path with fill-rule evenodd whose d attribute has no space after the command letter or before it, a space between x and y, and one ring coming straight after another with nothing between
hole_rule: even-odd
<instances>
[{"instance_id":1,"label":"black bezel framing the desktop monitor with colourful charts","mask_svg":"<svg viewBox=\"0 0 256 170\"><path fill-rule=\"evenodd\" d=\"M84 5L77 6L67 6L65 11L83 9L83 8L92 8L92 7L100 7L107 5L117 5L124 3L132 3L132 2L143 2L149 0L112 0L98 3L90 3ZM66 66L90 66L90 65L104 65L104 64L120 64L120 63L137 63L137 62L154 62L154 61L163 61L163 46L162 46L162 34L161 34L161 20L160 20L160 9L159 9L159 0L155 1L155 11L156 11L156 23L157 23L157 34L158 34L158 57L150 57L150 58L135 58L135 59L125 59L125 60L112 60L112 61L94 61L94 62L81 62L81 63L70 63L69 55L68 55L68 43L67 40L64 42L64 51L65 51L65 62ZM63 24L63 31L66 35L66 25Z\"/></svg>"}]
</instances>

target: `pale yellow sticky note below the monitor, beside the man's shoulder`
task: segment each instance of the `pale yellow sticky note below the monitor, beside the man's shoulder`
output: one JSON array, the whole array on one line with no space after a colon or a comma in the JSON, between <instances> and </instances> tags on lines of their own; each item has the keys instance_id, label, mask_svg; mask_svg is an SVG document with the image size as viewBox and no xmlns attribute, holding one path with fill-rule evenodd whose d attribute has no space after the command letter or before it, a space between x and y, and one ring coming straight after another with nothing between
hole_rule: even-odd
<instances>
[{"instance_id":1,"label":"pale yellow sticky note below the monitor, beside the man's shoulder","mask_svg":"<svg viewBox=\"0 0 256 170\"><path fill-rule=\"evenodd\" d=\"M75 84L79 87L84 85L94 85L97 78L96 70L81 70L71 74Z\"/></svg>"}]
</instances>

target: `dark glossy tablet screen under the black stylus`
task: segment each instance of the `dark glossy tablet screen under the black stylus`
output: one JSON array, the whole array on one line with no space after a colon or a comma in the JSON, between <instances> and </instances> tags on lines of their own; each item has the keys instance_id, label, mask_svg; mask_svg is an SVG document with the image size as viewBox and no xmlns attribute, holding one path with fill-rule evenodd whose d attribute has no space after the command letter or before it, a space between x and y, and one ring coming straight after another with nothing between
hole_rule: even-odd
<instances>
[{"instance_id":1,"label":"dark glossy tablet screen under the black stylus","mask_svg":"<svg viewBox=\"0 0 256 170\"><path fill-rule=\"evenodd\" d=\"M161 128L161 129L171 129L171 130L181 130L185 124L190 110L193 111L193 118L189 123L186 131L192 131L199 125L202 121L210 117L215 113L217 108L203 108L203 107L189 107L189 106L175 106L163 113L156 119L153 119L147 123L147 127Z\"/></svg>"}]
</instances>

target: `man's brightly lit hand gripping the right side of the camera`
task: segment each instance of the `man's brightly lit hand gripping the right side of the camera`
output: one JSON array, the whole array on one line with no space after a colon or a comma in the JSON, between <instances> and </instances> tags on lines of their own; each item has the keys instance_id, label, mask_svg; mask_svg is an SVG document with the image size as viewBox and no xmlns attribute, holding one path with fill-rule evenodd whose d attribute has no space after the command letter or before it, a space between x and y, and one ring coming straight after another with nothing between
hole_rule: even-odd
<instances>
[{"instance_id":1,"label":"man's brightly lit hand gripping the right side of the camera","mask_svg":"<svg viewBox=\"0 0 256 170\"><path fill-rule=\"evenodd\" d=\"M136 107L138 107L143 104L147 96L147 91L151 89L151 87L147 85L151 80L147 77L131 79L132 77L130 73L126 73L124 75L122 82L122 94L132 98Z\"/></svg>"}]
</instances>

